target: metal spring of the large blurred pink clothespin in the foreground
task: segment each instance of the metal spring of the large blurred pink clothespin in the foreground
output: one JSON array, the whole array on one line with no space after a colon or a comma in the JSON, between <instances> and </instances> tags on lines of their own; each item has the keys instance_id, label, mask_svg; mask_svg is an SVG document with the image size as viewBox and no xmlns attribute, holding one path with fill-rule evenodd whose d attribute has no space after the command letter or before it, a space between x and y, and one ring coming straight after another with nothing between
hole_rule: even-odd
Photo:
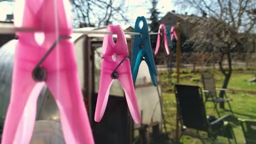
<instances>
[{"instance_id":1,"label":"metal spring of the large blurred pink clothespin in the foreground","mask_svg":"<svg viewBox=\"0 0 256 144\"><path fill-rule=\"evenodd\" d=\"M32 77L35 81L44 81L46 79L46 70L43 67L40 67L40 65L44 62L45 58L50 54L51 51L53 51L54 47L60 43L62 39L70 39L70 36L61 36L59 37L55 43L50 47L50 49L45 53L45 55L40 59L36 67L32 71Z\"/></svg>"}]
</instances>

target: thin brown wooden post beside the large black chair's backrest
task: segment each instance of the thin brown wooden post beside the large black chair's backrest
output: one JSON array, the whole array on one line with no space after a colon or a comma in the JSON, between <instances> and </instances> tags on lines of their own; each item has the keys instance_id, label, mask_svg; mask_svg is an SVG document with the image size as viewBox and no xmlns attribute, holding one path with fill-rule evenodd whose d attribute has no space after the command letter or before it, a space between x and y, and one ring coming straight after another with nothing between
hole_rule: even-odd
<instances>
[{"instance_id":1,"label":"thin brown wooden post beside the large black chair's backrest","mask_svg":"<svg viewBox=\"0 0 256 144\"><path fill-rule=\"evenodd\" d=\"M176 32L177 32L177 55L176 55L176 62L177 62L177 83L179 83L179 62L181 61L181 28L180 23L177 22ZM179 139L179 121L178 121L178 105L176 106L176 141Z\"/></svg>"}]
</instances>

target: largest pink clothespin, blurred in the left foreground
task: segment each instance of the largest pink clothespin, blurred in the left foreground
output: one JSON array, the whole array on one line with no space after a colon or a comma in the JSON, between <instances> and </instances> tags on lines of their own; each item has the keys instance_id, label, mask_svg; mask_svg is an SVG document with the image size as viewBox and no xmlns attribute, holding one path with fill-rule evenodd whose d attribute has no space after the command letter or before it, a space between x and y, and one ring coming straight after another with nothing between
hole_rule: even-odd
<instances>
[{"instance_id":1,"label":"largest pink clothespin, blurred in the left foreground","mask_svg":"<svg viewBox=\"0 0 256 144\"><path fill-rule=\"evenodd\" d=\"M94 143L78 81L68 0L19 0L14 25L39 29L17 32L11 97L2 143L30 142L36 104L46 84L59 107L66 143Z\"/></svg>"}]
</instances>

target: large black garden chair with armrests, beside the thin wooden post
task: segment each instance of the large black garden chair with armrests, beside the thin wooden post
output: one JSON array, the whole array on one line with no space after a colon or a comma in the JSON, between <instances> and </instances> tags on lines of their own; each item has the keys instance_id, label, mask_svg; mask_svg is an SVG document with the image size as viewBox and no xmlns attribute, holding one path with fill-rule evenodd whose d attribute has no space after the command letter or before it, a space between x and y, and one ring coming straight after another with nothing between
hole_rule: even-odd
<instances>
[{"instance_id":1,"label":"large black garden chair with armrests, beside the thin wooden post","mask_svg":"<svg viewBox=\"0 0 256 144\"><path fill-rule=\"evenodd\" d=\"M189 135L185 134L185 132L187 128L191 128L195 129L198 134L199 130L206 131L210 138L209 140L216 140L217 136L223 136L228 138L229 142L230 139L234 139L236 143L236 137L229 122L234 117L232 115L225 115L217 119L214 116L206 116L202 90L199 86L176 84L174 92L182 135Z\"/></svg>"}]
</instances>

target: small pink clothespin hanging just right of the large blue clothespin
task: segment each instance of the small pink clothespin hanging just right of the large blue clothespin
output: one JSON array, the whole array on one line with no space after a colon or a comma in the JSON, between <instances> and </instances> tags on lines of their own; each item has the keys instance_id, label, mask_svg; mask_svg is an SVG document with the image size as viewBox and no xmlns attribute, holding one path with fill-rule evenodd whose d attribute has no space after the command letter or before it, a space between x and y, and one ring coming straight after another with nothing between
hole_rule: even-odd
<instances>
[{"instance_id":1,"label":"small pink clothespin hanging just right of the large blue clothespin","mask_svg":"<svg viewBox=\"0 0 256 144\"><path fill-rule=\"evenodd\" d=\"M169 52L169 48L168 48L168 44L167 44L167 38L166 38L166 29L165 29L165 25L164 24L161 24L159 26L159 29L158 29L158 41L156 41L156 47L155 47L155 55L158 53L158 50L159 50L159 46L160 46L160 37L164 37L164 41L165 41L165 50L166 50L166 53L167 55L170 54Z\"/></svg>"}]
</instances>

